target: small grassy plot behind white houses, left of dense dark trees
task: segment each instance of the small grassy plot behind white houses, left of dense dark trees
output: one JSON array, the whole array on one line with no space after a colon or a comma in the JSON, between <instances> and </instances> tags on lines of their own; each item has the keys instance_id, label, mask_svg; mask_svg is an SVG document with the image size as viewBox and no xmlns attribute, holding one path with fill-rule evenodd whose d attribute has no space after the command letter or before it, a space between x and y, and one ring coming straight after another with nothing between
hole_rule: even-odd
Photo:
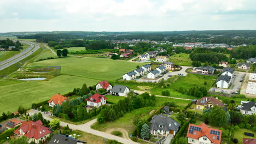
<instances>
[{"instance_id":1,"label":"small grassy plot behind white houses, left of dense dark trees","mask_svg":"<svg viewBox=\"0 0 256 144\"><path fill-rule=\"evenodd\" d=\"M169 57L169 60L176 65L191 66L191 64L192 64L192 61L189 58L189 54L187 54L187 53L175 54L175 55Z\"/></svg>"}]
</instances>

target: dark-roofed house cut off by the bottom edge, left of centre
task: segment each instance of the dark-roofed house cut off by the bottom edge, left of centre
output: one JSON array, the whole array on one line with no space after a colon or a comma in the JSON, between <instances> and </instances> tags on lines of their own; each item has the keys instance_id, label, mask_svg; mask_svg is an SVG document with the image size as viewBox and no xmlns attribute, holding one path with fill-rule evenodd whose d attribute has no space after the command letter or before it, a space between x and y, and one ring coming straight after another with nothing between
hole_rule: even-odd
<instances>
[{"instance_id":1,"label":"dark-roofed house cut off by the bottom edge, left of centre","mask_svg":"<svg viewBox=\"0 0 256 144\"><path fill-rule=\"evenodd\" d=\"M54 136L51 138L51 140L48 142L48 144L83 144L86 143L84 141L80 141L77 139L73 139L72 137L69 137L68 135L61 135L61 134L54 134Z\"/></svg>"}]
</instances>

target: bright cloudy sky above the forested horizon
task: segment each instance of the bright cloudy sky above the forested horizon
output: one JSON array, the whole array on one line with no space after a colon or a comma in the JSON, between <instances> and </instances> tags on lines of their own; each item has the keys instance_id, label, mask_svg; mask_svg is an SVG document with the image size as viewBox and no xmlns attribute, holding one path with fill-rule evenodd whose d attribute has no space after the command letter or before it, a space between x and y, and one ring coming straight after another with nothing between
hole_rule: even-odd
<instances>
[{"instance_id":1,"label":"bright cloudy sky above the forested horizon","mask_svg":"<svg viewBox=\"0 0 256 144\"><path fill-rule=\"evenodd\" d=\"M255 0L0 0L0 32L256 29Z\"/></svg>"}]
</instances>

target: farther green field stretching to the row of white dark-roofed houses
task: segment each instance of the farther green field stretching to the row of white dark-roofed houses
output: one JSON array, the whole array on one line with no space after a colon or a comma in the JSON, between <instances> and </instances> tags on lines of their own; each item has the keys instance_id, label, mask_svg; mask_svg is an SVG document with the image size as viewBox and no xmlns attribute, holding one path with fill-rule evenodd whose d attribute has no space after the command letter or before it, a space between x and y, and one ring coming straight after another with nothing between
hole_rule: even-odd
<instances>
[{"instance_id":1,"label":"farther green field stretching to the row of white dark-roofed houses","mask_svg":"<svg viewBox=\"0 0 256 144\"><path fill-rule=\"evenodd\" d=\"M96 80L117 80L137 65L144 63L131 63L126 61L114 61L103 58L56 58L28 64L28 67L37 66L61 66L61 74L75 75Z\"/></svg>"}]
</instances>

